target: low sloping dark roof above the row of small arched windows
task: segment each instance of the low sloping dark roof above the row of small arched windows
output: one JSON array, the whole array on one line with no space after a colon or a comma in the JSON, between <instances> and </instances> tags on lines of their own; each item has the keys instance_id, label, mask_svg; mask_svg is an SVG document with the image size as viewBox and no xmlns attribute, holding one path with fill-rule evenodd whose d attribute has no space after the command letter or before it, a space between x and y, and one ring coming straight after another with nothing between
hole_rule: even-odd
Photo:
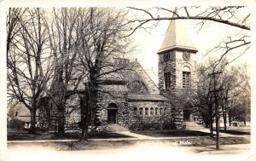
<instances>
[{"instance_id":1,"label":"low sloping dark roof above the row of small arched windows","mask_svg":"<svg viewBox=\"0 0 256 161\"><path fill-rule=\"evenodd\" d=\"M130 101L170 101L162 95L136 95L129 94L128 99Z\"/></svg>"}]
</instances>

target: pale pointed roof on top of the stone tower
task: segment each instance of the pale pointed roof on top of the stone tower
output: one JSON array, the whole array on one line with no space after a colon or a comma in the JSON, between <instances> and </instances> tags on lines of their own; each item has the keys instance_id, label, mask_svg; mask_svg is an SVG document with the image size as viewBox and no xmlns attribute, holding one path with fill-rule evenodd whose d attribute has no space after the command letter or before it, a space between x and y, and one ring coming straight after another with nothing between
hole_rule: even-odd
<instances>
[{"instance_id":1,"label":"pale pointed roof on top of the stone tower","mask_svg":"<svg viewBox=\"0 0 256 161\"><path fill-rule=\"evenodd\" d=\"M158 54L172 49L185 49L197 52L197 49L190 41L182 20L171 20Z\"/></svg>"}]
</instances>

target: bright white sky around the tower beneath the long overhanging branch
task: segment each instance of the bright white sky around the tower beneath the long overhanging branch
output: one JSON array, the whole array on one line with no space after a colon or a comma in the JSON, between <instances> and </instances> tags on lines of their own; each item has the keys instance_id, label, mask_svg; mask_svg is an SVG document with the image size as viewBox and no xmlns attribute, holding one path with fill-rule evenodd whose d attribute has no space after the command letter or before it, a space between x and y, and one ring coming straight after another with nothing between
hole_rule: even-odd
<instances>
[{"instance_id":1,"label":"bright white sky around the tower beneath the long overhanging branch","mask_svg":"<svg viewBox=\"0 0 256 161\"><path fill-rule=\"evenodd\" d=\"M145 32L143 29L138 30L133 35L134 43L137 45L137 60L142 64L145 69L154 69L157 74L158 69L158 55L157 50L160 49L160 45L165 37L166 30L170 21L165 20L160 22L159 26L151 30L151 33ZM237 34L240 29L234 26L227 26L217 22L207 22L201 31L198 32L196 26L196 20L183 20L183 26L185 27L191 42L194 43L195 48L198 49L197 58L198 62L207 60L203 55L207 53L207 50L212 49L218 45L225 37L229 35ZM232 54L230 60L233 60L239 53ZM220 54L216 54L218 57ZM209 55L210 56L210 55ZM214 56L213 53L211 56ZM231 56L231 55L230 55ZM249 62L250 54L247 51L245 55L242 55L239 59L234 61L231 65L237 65L242 62Z\"/></svg>"}]
</instances>

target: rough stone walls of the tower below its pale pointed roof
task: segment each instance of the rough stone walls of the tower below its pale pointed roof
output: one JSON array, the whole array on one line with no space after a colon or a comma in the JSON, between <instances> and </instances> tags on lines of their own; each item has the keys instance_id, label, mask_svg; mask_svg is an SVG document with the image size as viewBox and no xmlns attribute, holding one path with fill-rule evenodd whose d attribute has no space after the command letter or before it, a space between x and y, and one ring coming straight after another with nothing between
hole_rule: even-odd
<instances>
[{"instance_id":1,"label":"rough stone walls of the tower below its pale pointed roof","mask_svg":"<svg viewBox=\"0 0 256 161\"><path fill-rule=\"evenodd\" d=\"M183 108L192 100L192 91L196 89L196 61L195 54L190 53L190 60L183 60L183 51L166 51L170 54L170 60L164 60L164 53L159 55L159 89L160 95L170 99L172 104L172 117L177 129L183 128ZM190 83L189 89L183 89L183 67L189 66ZM164 72L171 72L171 88L165 89ZM192 110L192 109L191 109Z\"/></svg>"}]
</instances>

